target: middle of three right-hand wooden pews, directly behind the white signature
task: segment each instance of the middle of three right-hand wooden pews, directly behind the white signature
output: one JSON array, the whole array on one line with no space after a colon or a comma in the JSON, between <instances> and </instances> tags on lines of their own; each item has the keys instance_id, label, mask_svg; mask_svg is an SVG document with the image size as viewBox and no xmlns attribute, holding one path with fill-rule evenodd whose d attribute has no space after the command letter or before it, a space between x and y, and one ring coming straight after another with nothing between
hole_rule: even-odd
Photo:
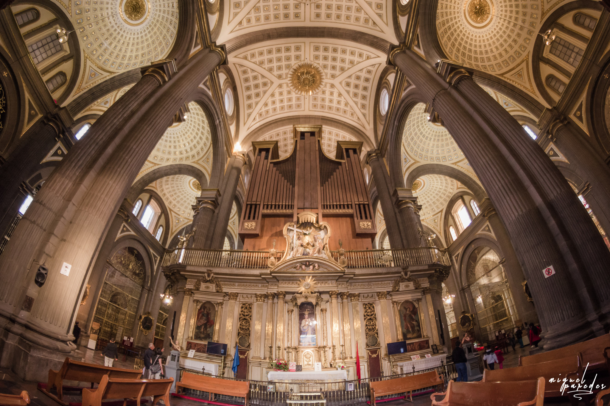
<instances>
[{"instance_id":1,"label":"middle of three right-hand wooden pews, directly behind the white signature","mask_svg":"<svg viewBox=\"0 0 610 406\"><path fill-rule=\"evenodd\" d=\"M534 365L517 366L517 368L486 369L481 382L515 382L517 380L534 380L539 377L546 379L544 387L545 397L570 396L572 388L563 390L563 379L580 379L583 377L583 360L578 355L566 357ZM575 398L570 396L570 400Z\"/></svg>"}]
</instances>

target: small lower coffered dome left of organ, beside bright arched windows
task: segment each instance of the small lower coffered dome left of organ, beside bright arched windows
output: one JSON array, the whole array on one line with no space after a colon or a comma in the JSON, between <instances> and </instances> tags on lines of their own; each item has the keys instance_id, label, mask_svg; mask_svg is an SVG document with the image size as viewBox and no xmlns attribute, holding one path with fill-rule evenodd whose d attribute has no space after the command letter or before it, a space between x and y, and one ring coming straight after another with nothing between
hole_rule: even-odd
<instances>
[{"instance_id":1,"label":"small lower coffered dome left of organ, beside bright arched windows","mask_svg":"<svg viewBox=\"0 0 610 406\"><path fill-rule=\"evenodd\" d=\"M182 227L193 221L192 205L201 194L201 185L188 175L171 175L160 178L148 186L163 199L170 214L170 240Z\"/></svg>"}]
</instances>

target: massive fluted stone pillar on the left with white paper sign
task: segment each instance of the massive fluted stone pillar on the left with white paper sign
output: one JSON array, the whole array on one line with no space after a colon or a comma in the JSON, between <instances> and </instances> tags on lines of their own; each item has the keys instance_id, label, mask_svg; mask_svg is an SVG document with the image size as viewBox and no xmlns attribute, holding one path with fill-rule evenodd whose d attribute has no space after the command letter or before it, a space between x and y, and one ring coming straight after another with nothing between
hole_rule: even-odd
<instances>
[{"instance_id":1,"label":"massive fluted stone pillar on the left with white paper sign","mask_svg":"<svg viewBox=\"0 0 610 406\"><path fill-rule=\"evenodd\" d=\"M171 117L223 56L220 50L203 49L179 72L173 60L147 67L142 80L93 124L51 174L0 256L0 279L12 281L0 287L0 315L14 320L9 326L13 335L46 352L34 355L35 347L22 345L13 348L18 354L4 351L3 357L18 357L15 364L34 365L36 360L57 367L59 354L71 351L75 304L99 240ZM48 278L37 287L34 276L43 263ZM36 297L26 299L28 289ZM40 372L27 377L38 378L44 378Z\"/></svg>"}]
</instances>

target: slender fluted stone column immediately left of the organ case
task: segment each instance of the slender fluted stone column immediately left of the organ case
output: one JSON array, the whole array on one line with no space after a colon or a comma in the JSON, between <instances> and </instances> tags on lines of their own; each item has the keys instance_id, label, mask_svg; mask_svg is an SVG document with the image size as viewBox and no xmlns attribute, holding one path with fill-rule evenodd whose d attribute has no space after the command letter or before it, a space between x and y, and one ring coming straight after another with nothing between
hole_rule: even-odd
<instances>
[{"instance_id":1,"label":"slender fluted stone column immediately left of the organ case","mask_svg":"<svg viewBox=\"0 0 610 406\"><path fill-rule=\"evenodd\" d=\"M224 237L229 226L229 217L231 217L231 208L235 200L235 191L237 191L239 178L242 175L242 167L245 163L246 156L242 153L234 153L231 159L229 159L229 163L224 171L220 206L214 216L213 234L209 234L209 244L206 248L212 248L213 250L222 250L223 248Z\"/></svg>"}]
</instances>

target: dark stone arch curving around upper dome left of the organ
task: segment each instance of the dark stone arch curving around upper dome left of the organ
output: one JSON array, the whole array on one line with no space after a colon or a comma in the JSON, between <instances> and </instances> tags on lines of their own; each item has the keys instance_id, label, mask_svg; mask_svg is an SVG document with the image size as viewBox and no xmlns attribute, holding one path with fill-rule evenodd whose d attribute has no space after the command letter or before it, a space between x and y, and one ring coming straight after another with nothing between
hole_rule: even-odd
<instances>
[{"instance_id":1,"label":"dark stone arch curving around upper dome left of the organ","mask_svg":"<svg viewBox=\"0 0 610 406\"><path fill-rule=\"evenodd\" d=\"M224 166L226 165L227 151L225 139L221 128L224 127L223 118L218 111L217 103L209 93L202 88L197 88L190 97L190 100L197 103L206 114L207 122L210 125L210 138L212 141L212 170L210 170L210 180L208 187L218 189L223 180ZM203 187L203 186L202 186Z\"/></svg>"}]
</instances>

